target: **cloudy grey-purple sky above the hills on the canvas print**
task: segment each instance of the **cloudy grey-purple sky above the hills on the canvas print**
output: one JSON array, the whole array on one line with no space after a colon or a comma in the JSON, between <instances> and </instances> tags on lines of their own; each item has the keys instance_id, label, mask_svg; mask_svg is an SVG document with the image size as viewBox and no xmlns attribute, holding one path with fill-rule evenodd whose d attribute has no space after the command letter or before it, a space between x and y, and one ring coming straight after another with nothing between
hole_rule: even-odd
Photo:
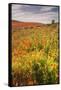
<instances>
[{"instance_id":1,"label":"cloudy grey-purple sky above the hills on the canvas print","mask_svg":"<svg viewBox=\"0 0 61 90\"><path fill-rule=\"evenodd\" d=\"M12 4L12 20L45 24L52 20L58 22L58 7Z\"/></svg>"}]
</instances>

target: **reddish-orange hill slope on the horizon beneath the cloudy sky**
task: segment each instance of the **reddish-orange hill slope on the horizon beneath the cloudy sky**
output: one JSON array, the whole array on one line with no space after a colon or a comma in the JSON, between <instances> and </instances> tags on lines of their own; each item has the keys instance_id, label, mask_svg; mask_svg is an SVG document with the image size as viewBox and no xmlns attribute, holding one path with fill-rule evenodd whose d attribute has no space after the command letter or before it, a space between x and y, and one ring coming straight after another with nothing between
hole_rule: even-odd
<instances>
[{"instance_id":1,"label":"reddish-orange hill slope on the horizon beneath the cloudy sky","mask_svg":"<svg viewBox=\"0 0 61 90\"><path fill-rule=\"evenodd\" d=\"M21 28L33 28L33 27L43 27L46 26L42 23L34 23L34 22L19 22L12 20L12 28L13 29L21 29Z\"/></svg>"}]
</instances>

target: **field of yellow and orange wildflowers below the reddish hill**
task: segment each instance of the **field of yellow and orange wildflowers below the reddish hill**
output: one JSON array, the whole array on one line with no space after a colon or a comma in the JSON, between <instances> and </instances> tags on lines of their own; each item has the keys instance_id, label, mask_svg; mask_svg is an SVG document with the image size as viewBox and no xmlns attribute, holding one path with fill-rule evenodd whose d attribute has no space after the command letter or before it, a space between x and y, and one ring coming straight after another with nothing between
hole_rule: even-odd
<instances>
[{"instance_id":1,"label":"field of yellow and orange wildflowers below the reddish hill","mask_svg":"<svg viewBox=\"0 0 61 90\"><path fill-rule=\"evenodd\" d=\"M12 85L59 83L58 24L12 30Z\"/></svg>"}]
</instances>

